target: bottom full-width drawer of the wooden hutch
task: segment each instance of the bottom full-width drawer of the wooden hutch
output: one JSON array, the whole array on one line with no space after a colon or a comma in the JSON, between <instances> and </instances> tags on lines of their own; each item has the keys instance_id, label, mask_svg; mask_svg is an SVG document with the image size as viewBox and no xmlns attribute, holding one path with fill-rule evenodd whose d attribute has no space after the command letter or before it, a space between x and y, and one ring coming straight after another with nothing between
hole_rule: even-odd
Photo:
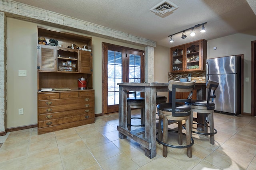
<instances>
[{"instance_id":1,"label":"bottom full-width drawer of the wooden hutch","mask_svg":"<svg viewBox=\"0 0 256 170\"><path fill-rule=\"evenodd\" d=\"M63 117L63 115L62 115L60 118L48 119L46 121L40 121L40 119L39 119L38 128L60 125L63 123L70 123L70 122L86 120L86 119L94 119L93 112L92 113L84 113L84 111L82 111L82 113L83 114L81 114L81 115L74 115L74 116L68 116L68 117ZM57 116L53 115L53 117L57 117Z\"/></svg>"}]
</instances>

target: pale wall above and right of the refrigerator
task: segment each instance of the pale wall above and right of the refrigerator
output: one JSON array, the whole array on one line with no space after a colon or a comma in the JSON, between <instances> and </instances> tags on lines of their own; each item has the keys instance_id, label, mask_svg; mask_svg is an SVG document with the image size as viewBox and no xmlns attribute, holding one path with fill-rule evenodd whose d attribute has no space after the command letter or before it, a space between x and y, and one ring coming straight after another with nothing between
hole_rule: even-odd
<instances>
[{"instance_id":1,"label":"pale wall above and right of the refrigerator","mask_svg":"<svg viewBox=\"0 0 256 170\"><path fill-rule=\"evenodd\" d=\"M249 77L249 82L243 80L245 113L251 113L251 42L255 40L256 36L238 33L207 42L208 59L244 54L244 79ZM213 47L217 49L214 50Z\"/></svg>"}]
</instances>

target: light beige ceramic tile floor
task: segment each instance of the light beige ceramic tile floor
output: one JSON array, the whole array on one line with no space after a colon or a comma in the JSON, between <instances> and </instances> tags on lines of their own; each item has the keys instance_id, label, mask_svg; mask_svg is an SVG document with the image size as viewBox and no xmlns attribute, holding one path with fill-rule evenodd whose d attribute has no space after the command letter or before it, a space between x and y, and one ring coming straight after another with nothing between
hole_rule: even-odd
<instances>
[{"instance_id":1,"label":"light beige ceramic tile floor","mask_svg":"<svg viewBox=\"0 0 256 170\"><path fill-rule=\"evenodd\" d=\"M14 131L0 137L0 170L256 170L256 117L214 113L214 121L215 145L193 134L192 158L173 148L164 158L157 144L149 159L132 139L118 139L118 113L43 135L37 128Z\"/></svg>"}]
</instances>

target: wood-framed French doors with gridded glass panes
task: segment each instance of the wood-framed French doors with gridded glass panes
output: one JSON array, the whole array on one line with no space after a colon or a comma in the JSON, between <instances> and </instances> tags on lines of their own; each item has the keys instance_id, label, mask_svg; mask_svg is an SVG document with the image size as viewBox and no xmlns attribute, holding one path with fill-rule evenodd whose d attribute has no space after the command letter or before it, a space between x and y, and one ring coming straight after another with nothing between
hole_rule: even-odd
<instances>
[{"instance_id":1,"label":"wood-framed French doors with gridded glass panes","mask_svg":"<svg viewBox=\"0 0 256 170\"><path fill-rule=\"evenodd\" d=\"M102 43L102 114L118 111L117 83L144 82L144 77L144 51Z\"/></svg>"}]
</instances>

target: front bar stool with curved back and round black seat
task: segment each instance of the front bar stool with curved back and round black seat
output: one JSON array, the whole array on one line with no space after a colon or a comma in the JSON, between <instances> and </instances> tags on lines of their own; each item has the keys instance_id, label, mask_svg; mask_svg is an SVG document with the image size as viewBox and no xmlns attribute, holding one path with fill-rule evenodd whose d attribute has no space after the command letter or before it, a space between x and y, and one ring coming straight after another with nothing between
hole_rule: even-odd
<instances>
[{"instance_id":1,"label":"front bar stool with curved back and round black seat","mask_svg":"<svg viewBox=\"0 0 256 170\"><path fill-rule=\"evenodd\" d=\"M158 123L158 143L163 145L163 156L167 156L167 147L172 148L187 148L187 155L189 158L192 157L192 145L194 144L194 140L191 137L190 131L190 115L191 109L190 106L184 104L184 102L191 102L193 89L196 82L178 82L178 81L169 81L168 89L172 91L172 101L171 103L162 103L157 105L157 112L159 117ZM178 99L176 98L176 92L190 92L188 98L186 99ZM172 120L174 122L178 122L178 145L170 145L168 144L168 131L173 132L172 130L168 130L168 120ZM181 121L185 120L188 128L186 129L186 134L182 133L182 123ZM182 135L186 135L186 145L182 145Z\"/></svg>"}]
</instances>

